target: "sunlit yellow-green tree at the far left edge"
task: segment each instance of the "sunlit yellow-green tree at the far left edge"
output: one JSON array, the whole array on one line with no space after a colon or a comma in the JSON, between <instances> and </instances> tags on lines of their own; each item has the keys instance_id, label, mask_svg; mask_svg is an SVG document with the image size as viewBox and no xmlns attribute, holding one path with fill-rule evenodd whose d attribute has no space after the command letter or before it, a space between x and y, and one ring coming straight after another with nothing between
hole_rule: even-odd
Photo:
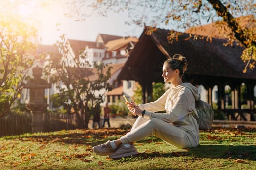
<instances>
[{"instance_id":1,"label":"sunlit yellow-green tree at the far left edge","mask_svg":"<svg viewBox=\"0 0 256 170\"><path fill-rule=\"evenodd\" d=\"M19 17L0 16L0 116L21 97L28 71L38 59L36 29Z\"/></svg>"}]
</instances>

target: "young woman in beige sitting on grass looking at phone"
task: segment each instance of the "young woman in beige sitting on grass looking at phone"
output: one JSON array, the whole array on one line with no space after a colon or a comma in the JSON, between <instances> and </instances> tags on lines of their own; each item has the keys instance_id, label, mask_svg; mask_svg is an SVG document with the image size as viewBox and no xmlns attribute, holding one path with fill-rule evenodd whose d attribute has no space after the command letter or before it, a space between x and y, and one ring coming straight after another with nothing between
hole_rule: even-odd
<instances>
[{"instance_id":1,"label":"young woman in beige sitting on grass looking at phone","mask_svg":"<svg viewBox=\"0 0 256 170\"><path fill-rule=\"evenodd\" d=\"M113 141L93 147L102 156L117 159L138 154L134 142L155 135L177 148L192 148L199 144L199 126L192 112L196 112L195 100L199 93L195 86L183 83L182 76L187 69L187 59L176 54L163 64L165 83L171 83L159 99L146 104L135 105L126 102L129 111L137 115L130 132ZM156 113L166 110L166 113Z\"/></svg>"}]
</instances>

